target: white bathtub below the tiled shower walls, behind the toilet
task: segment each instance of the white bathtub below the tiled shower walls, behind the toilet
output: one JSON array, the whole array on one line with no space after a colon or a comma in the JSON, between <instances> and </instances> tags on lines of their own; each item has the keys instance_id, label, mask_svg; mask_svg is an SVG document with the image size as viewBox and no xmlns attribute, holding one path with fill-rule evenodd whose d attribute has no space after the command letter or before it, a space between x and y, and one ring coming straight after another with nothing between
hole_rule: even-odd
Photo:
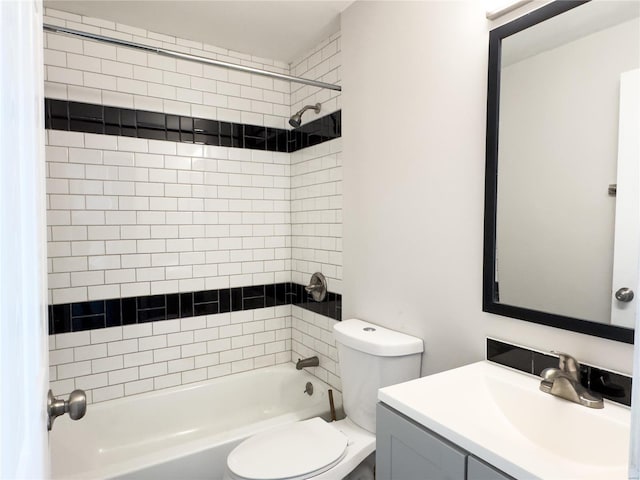
<instances>
[{"instance_id":1,"label":"white bathtub below the tiled shower walls, behind the toilet","mask_svg":"<svg viewBox=\"0 0 640 480\"><path fill-rule=\"evenodd\" d=\"M328 389L285 364L89 405L79 421L55 420L52 477L219 479L228 453L246 437L326 415ZM336 391L334 398L341 405Z\"/></svg>"}]
</instances>

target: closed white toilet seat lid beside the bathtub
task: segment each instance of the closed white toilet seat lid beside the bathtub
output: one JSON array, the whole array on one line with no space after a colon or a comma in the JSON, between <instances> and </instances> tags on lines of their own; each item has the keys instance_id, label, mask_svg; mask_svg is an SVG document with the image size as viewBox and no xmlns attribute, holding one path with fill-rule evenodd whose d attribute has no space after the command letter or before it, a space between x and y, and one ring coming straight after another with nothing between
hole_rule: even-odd
<instances>
[{"instance_id":1,"label":"closed white toilet seat lid beside the bathtub","mask_svg":"<svg viewBox=\"0 0 640 480\"><path fill-rule=\"evenodd\" d=\"M342 460L348 438L320 417L248 438L227 457L227 467L245 480L303 480Z\"/></svg>"}]
</instances>

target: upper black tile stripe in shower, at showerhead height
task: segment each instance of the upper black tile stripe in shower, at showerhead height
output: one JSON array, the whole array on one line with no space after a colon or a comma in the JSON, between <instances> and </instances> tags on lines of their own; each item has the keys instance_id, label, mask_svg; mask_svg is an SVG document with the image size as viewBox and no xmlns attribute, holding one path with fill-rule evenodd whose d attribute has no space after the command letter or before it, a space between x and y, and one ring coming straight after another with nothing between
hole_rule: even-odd
<instances>
[{"instance_id":1,"label":"upper black tile stripe in shower, at showerhead height","mask_svg":"<svg viewBox=\"0 0 640 480\"><path fill-rule=\"evenodd\" d=\"M45 99L45 128L292 153L342 135L342 112L294 130Z\"/></svg>"}]
</instances>

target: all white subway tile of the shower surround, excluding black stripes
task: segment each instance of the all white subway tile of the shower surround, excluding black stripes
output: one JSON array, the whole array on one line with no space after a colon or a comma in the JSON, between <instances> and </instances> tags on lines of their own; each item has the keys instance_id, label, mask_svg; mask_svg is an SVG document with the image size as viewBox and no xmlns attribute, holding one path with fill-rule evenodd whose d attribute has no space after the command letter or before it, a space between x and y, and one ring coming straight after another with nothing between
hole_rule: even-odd
<instances>
[{"instance_id":1,"label":"all white subway tile of the shower surround, excluding black stripes","mask_svg":"<svg viewBox=\"0 0 640 480\"><path fill-rule=\"evenodd\" d=\"M286 65L51 9L44 21L340 83L339 34ZM45 95L273 129L303 104L340 109L339 92L53 33ZM48 130L46 158L53 305L306 284L315 271L341 293L339 138L286 153ZM286 304L55 334L51 385L100 402L317 354L312 373L339 389L334 323Z\"/></svg>"}]
</instances>

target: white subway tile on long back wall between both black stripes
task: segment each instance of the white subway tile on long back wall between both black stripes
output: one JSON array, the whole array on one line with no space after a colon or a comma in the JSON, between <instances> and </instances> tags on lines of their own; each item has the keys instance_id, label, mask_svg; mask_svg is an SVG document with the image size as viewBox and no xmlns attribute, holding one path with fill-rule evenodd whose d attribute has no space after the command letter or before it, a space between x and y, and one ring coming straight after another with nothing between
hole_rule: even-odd
<instances>
[{"instance_id":1,"label":"white subway tile on long back wall between both black stripes","mask_svg":"<svg viewBox=\"0 0 640 480\"><path fill-rule=\"evenodd\" d=\"M289 154L47 136L50 303L290 281Z\"/></svg>"}]
</instances>

